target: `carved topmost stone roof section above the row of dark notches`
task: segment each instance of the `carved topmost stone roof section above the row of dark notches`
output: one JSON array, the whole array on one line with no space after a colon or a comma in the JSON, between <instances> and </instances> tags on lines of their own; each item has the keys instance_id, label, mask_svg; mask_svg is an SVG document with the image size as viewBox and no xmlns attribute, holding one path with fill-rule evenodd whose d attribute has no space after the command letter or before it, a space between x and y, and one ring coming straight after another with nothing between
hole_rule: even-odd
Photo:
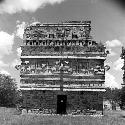
<instances>
[{"instance_id":1,"label":"carved topmost stone roof section above the row of dark notches","mask_svg":"<svg viewBox=\"0 0 125 125\"><path fill-rule=\"evenodd\" d=\"M33 23L24 30L26 40L72 40L91 39L90 21L69 21L62 23ZM28 42L27 42L28 43ZM29 43L30 44L30 43Z\"/></svg>"}]
</instances>

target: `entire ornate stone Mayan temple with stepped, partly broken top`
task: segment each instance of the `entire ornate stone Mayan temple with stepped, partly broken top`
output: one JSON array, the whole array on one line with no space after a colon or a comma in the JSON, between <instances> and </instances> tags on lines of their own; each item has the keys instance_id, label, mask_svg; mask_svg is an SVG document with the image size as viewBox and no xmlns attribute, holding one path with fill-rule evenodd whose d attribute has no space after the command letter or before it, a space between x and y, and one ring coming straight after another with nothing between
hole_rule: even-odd
<instances>
[{"instance_id":1,"label":"entire ornate stone Mayan temple with stepped, partly broken top","mask_svg":"<svg viewBox=\"0 0 125 125\"><path fill-rule=\"evenodd\" d=\"M66 114L103 110L106 47L92 39L91 21L32 23L21 46L23 107Z\"/></svg>"}]
</instances>

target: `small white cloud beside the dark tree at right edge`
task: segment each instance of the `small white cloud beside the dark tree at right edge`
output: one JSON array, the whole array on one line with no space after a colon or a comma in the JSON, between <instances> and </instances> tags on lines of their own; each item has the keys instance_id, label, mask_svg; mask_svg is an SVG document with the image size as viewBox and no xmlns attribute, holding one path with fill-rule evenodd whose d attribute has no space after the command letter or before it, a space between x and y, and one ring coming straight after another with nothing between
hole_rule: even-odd
<instances>
[{"instance_id":1,"label":"small white cloud beside the dark tree at right edge","mask_svg":"<svg viewBox=\"0 0 125 125\"><path fill-rule=\"evenodd\" d=\"M117 71L122 71L121 68L123 67L123 64L124 60L119 57L119 59L113 63L113 68Z\"/></svg>"}]
</instances>

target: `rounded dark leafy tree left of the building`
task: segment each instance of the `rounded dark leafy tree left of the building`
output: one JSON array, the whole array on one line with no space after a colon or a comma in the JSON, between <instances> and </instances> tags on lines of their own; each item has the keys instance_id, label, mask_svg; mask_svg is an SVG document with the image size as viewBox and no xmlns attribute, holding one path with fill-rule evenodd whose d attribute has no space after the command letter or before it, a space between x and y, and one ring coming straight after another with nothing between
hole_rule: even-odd
<instances>
[{"instance_id":1,"label":"rounded dark leafy tree left of the building","mask_svg":"<svg viewBox=\"0 0 125 125\"><path fill-rule=\"evenodd\" d=\"M0 74L0 106L15 106L17 95L15 79L11 76Z\"/></svg>"}]
</instances>

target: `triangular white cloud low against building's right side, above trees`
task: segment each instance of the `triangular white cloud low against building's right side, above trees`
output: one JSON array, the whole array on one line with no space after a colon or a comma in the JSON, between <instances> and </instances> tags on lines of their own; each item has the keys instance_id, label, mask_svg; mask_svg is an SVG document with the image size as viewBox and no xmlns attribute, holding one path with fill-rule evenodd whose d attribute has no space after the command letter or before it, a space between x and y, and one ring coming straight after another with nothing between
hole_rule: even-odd
<instances>
[{"instance_id":1,"label":"triangular white cloud low against building's right side, above trees","mask_svg":"<svg viewBox=\"0 0 125 125\"><path fill-rule=\"evenodd\" d=\"M116 82L116 79L109 72L105 74L105 86L110 88L120 88L121 86Z\"/></svg>"}]
</instances>

